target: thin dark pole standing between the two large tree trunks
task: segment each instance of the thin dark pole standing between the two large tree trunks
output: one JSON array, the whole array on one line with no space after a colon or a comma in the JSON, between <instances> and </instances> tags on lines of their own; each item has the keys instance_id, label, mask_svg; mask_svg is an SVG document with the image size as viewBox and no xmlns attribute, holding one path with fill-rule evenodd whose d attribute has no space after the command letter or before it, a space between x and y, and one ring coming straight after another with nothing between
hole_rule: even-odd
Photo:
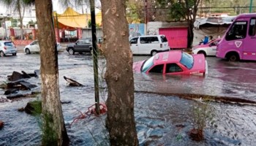
<instances>
[{"instance_id":1,"label":"thin dark pole standing between the two large tree trunks","mask_svg":"<svg viewBox=\"0 0 256 146\"><path fill-rule=\"evenodd\" d=\"M94 61L94 97L95 110L99 115L99 72L98 72L98 49L96 37L96 20L95 20L95 4L94 0L90 0L91 6L91 38L92 38L92 57Z\"/></svg>"}]
</instances>

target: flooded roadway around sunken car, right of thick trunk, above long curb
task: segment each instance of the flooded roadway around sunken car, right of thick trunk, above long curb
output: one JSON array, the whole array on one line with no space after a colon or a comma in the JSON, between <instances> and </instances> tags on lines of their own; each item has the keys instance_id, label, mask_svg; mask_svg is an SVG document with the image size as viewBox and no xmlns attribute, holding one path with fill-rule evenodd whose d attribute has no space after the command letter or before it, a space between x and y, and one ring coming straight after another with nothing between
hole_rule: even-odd
<instances>
[{"instance_id":1,"label":"flooded roadway around sunken car, right of thick trunk, above long curb","mask_svg":"<svg viewBox=\"0 0 256 146\"><path fill-rule=\"evenodd\" d=\"M206 77L135 74L135 82L139 82L135 86L138 85L140 90L157 93L195 93L256 101L256 62L228 62L215 57L206 59Z\"/></svg>"}]
</instances>

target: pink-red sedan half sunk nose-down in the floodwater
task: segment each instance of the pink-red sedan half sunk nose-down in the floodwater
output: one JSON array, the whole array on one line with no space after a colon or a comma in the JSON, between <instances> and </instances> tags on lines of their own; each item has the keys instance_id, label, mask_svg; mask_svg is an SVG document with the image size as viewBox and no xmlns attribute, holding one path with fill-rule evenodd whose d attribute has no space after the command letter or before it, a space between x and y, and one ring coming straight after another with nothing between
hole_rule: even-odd
<instances>
[{"instance_id":1,"label":"pink-red sedan half sunk nose-down in the floodwater","mask_svg":"<svg viewBox=\"0 0 256 146\"><path fill-rule=\"evenodd\" d=\"M203 54L189 55L181 50L157 53L145 61L133 64L133 72L160 74L208 74L208 64Z\"/></svg>"}]
</instances>

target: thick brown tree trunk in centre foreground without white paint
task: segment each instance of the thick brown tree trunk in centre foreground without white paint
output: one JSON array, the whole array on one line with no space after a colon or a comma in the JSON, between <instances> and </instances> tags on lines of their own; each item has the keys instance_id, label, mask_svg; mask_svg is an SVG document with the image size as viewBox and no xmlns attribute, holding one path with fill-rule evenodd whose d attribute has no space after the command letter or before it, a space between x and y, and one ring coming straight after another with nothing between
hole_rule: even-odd
<instances>
[{"instance_id":1,"label":"thick brown tree trunk in centre foreground without white paint","mask_svg":"<svg viewBox=\"0 0 256 146\"><path fill-rule=\"evenodd\" d=\"M103 54L107 60L108 85L106 127L111 145L138 145L134 117L132 52L125 0L102 0Z\"/></svg>"}]
</instances>

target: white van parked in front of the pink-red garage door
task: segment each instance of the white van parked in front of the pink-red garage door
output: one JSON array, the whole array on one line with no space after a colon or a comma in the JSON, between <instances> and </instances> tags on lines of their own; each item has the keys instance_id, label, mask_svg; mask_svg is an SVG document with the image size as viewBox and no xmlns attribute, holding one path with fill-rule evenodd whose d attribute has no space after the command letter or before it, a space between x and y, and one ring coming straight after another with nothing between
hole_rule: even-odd
<instances>
[{"instance_id":1,"label":"white van parked in front of the pink-red garage door","mask_svg":"<svg viewBox=\"0 0 256 146\"><path fill-rule=\"evenodd\" d=\"M129 44L132 54L135 55L155 55L170 50L164 35L133 37Z\"/></svg>"}]
</instances>

